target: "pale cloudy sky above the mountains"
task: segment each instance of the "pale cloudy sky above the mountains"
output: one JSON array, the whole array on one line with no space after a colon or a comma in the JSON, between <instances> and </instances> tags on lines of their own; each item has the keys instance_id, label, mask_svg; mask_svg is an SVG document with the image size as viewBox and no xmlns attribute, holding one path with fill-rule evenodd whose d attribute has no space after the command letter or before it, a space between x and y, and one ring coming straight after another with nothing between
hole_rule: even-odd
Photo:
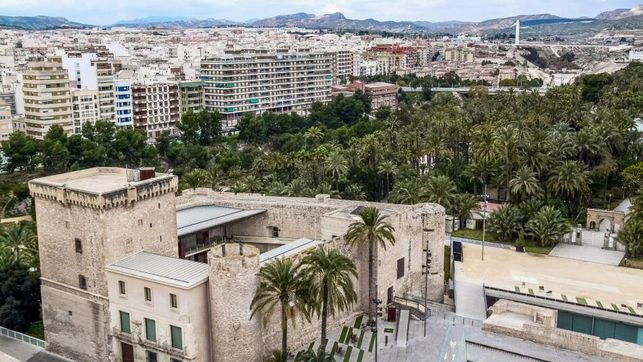
<instances>
[{"instance_id":1,"label":"pale cloudy sky above the mountains","mask_svg":"<svg viewBox=\"0 0 643 362\"><path fill-rule=\"evenodd\" d=\"M640 2L643 0L0 0L0 15L62 16L95 25L147 16L245 21L337 11L353 19L480 21L538 13L592 17Z\"/></svg>"}]
</instances>

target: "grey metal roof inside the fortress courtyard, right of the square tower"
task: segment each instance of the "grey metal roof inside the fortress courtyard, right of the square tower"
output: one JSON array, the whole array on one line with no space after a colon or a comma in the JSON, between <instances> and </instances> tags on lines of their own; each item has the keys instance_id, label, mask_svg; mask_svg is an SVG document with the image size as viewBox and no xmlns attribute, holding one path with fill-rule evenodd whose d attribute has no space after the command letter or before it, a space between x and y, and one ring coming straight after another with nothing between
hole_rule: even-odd
<instances>
[{"instance_id":1,"label":"grey metal roof inside the fortress courtyard, right of the square tower","mask_svg":"<svg viewBox=\"0 0 643 362\"><path fill-rule=\"evenodd\" d=\"M217 205L194 206L176 211L176 226L179 236L229 224L263 214L266 209L242 210Z\"/></svg>"}]
</instances>

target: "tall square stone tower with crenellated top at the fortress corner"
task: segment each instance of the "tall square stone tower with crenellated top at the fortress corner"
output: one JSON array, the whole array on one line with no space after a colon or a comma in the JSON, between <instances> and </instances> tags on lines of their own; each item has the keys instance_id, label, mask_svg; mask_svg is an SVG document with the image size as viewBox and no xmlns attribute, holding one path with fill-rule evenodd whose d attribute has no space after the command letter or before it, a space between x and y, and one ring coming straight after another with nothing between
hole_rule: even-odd
<instances>
[{"instance_id":1,"label":"tall square stone tower with crenellated top at the fortress corner","mask_svg":"<svg viewBox=\"0 0 643 362\"><path fill-rule=\"evenodd\" d=\"M109 359L105 267L140 250L178 255L177 184L153 169L108 167L29 182L51 351L76 361Z\"/></svg>"}]
</instances>

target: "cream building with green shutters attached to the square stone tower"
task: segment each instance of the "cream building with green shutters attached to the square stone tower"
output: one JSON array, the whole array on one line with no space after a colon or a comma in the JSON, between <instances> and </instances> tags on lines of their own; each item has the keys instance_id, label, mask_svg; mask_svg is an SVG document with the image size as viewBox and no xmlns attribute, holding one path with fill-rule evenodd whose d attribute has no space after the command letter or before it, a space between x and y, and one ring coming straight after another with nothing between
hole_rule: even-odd
<instances>
[{"instance_id":1,"label":"cream building with green shutters attached to the square stone tower","mask_svg":"<svg viewBox=\"0 0 643 362\"><path fill-rule=\"evenodd\" d=\"M107 267L107 290L116 356L210 360L207 264L141 251Z\"/></svg>"}]
</instances>

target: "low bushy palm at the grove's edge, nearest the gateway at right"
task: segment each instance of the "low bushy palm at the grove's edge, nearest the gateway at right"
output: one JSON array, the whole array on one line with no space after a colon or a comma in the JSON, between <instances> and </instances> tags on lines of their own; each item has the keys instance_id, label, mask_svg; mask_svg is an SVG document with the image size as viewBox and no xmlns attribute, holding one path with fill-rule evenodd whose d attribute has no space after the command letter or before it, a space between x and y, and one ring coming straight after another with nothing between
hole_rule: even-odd
<instances>
[{"instance_id":1,"label":"low bushy palm at the grove's edge, nearest the gateway at right","mask_svg":"<svg viewBox=\"0 0 643 362\"><path fill-rule=\"evenodd\" d=\"M529 220L527 229L540 246L548 246L557 243L572 227L559 210L544 206Z\"/></svg>"}]
</instances>

